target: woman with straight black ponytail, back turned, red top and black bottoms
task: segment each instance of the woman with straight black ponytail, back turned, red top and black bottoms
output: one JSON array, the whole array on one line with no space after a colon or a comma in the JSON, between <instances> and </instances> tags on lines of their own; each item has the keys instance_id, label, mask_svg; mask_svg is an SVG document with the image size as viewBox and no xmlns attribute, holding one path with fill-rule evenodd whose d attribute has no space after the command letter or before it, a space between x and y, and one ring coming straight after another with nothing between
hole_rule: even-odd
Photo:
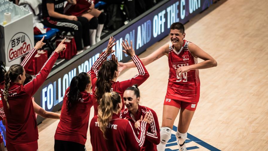
<instances>
[{"instance_id":1,"label":"woman with straight black ponytail, back turned, red top and black bottoms","mask_svg":"<svg viewBox=\"0 0 268 151\"><path fill-rule=\"evenodd\" d=\"M89 113L95 99L91 89L90 76L79 73L67 88L60 122L55 133L55 151L85 151L86 133L89 126Z\"/></svg>"}]
</instances>

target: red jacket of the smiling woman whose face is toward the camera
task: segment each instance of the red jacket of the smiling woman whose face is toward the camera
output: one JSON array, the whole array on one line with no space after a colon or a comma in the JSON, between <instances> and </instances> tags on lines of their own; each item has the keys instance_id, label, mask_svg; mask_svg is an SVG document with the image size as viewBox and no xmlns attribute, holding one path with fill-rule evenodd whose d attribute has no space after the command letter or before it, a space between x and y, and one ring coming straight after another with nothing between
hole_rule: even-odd
<instances>
[{"instance_id":1,"label":"red jacket of the smiling woman whose face is toward the camera","mask_svg":"<svg viewBox=\"0 0 268 151\"><path fill-rule=\"evenodd\" d=\"M135 122L141 119L141 115L144 117L146 112L153 114L153 122L150 124L148 131L146 132L146 140L141 150L143 151L157 151L156 145L160 143L160 129L156 112L146 106L138 105L138 111L132 117L130 111L127 108L121 111L120 118L127 119L132 124L135 134L138 136L140 129L135 129Z\"/></svg>"}]
</instances>

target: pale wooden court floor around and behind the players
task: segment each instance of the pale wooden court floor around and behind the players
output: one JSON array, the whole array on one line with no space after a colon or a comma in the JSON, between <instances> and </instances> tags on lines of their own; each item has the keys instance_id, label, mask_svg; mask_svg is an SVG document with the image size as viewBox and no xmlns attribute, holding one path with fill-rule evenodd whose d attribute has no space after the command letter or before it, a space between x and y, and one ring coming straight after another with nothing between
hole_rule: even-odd
<instances>
[{"instance_id":1,"label":"pale wooden court floor around and behind the players","mask_svg":"<svg viewBox=\"0 0 268 151\"><path fill-rule=\"evenodd\" d=\"M267 8L266 0L221 0L185 25L185 39L218 63L217 67L200 70L200 101L188 130L188 150L268 150ZM169 42L167 36L139 57ZM168 58L164 56L146 68L150 77L139 87L141 105L156 111L161 126ZM118 80L128 79L133 73L138 71L126 70ZM91 119L93 108L90 115ZM38 126L40 151L54 150L58 123L44 120ZM177 123L178 117L175 131ZM172 135L166 150L177 148ZM89 132L86 150L92 150Z\"/></svg>"}]
</instances>

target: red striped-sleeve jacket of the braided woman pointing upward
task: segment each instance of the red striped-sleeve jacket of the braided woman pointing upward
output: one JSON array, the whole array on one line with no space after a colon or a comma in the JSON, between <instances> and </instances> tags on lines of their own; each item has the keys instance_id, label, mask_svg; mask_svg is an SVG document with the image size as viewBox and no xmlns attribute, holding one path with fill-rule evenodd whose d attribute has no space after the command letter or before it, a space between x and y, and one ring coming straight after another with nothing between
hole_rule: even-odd
<instances>
[{"instance_id":1,"label":"red striped-sleeve jacket of the braided woman pointing upward","mask_svg":"<svg viewBox=\"0 0 268 151\"><path fill-rule=\"evenodd\" d=\"M25 70L27 70L36 53L36 49L33 48L22 61L21 65ZM45 62L41 71L32 81L24 86L19 83L10 82L8 91L9 109L7 109L7 103L3 95L5 84L4 82L0 84L1 99L7 118L6 136L7 141L10 143L28 143L38 139L38 129L33 110L32 96L46 80L58 56L59 54L57 52L53 52Z\"/></svg>"}]
</instances>

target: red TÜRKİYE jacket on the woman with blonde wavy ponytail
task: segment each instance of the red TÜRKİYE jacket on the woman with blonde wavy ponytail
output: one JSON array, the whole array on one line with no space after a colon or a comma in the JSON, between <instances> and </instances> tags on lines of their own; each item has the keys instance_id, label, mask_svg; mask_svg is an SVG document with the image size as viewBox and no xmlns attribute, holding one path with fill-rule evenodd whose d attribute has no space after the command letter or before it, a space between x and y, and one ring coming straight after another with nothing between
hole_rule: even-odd
<instances>
[{"instance_id":1,"label":"red T\u00dcRK\u0130YE jacket on the woman with blonde wavy ponytail","mask_svg":"<svg viewBox=\"0 0 268 151\"><path fill-rule=\"evenodd\" d=\"M107 150L140 150L144 145L145 134L149 124L141 121L141 132L135 135L134 129L129 120L121 119L117 114L112 115L112 119L107 126L105 139L102 131L98 127L98 115L94 116L89 125L90 141L93 151Z\"/></svg>"}]
</instances>

